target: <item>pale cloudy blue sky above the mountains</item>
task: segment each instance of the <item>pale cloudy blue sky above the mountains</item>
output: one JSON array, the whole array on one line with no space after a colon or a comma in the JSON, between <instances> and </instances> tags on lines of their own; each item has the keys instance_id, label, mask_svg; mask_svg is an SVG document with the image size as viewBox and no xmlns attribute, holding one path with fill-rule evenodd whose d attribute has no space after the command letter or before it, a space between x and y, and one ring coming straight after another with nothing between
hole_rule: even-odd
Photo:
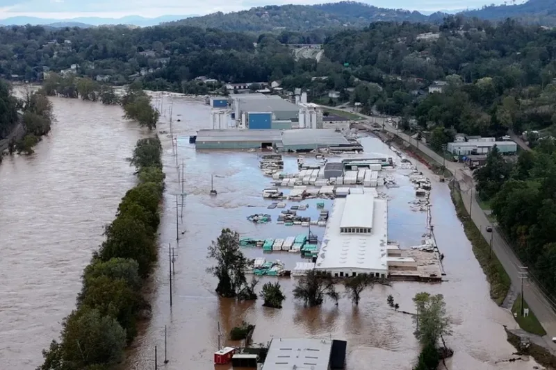
<instances>
[{"instance_id":1,"label":"pale cloudy blue sky above the mountains","mask_svg":"<svg viewBox=\"0 0 556 370\"><path fill-rule=\"evenodd\" d=\"M334 0L0 0L0 19L14 16L67 19L74 17L123 17L141 15L204 15L211 12L233 12L263 5L286 3L324 3ZM502 0L361 0L383 8L410 10L456 10L480 8L485 3Z\"/></svg>"}]
</instances>

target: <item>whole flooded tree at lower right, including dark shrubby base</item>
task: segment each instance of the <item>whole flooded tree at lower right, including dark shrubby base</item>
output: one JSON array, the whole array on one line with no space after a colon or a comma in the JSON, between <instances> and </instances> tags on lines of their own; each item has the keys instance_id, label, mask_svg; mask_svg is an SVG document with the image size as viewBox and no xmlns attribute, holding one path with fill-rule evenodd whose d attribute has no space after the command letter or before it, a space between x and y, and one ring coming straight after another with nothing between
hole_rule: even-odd
<instances>
[{"instance_id":1,"label":"whole flooded tree at lower right, including dark shrubby base","mask_svg":"<svg viewBox=\"0 0 556 370\"><path fill-rule=\"evenodd\" d=\"M442 294L433 296L425 292L416 294L413 301L417 310L414 335L421 345L414 370L436 370L441 360L453 354L444 342L444 336L452 334L446 304ZM442 340L441 348L439 340Z\"/></svg>"}]
</instances>

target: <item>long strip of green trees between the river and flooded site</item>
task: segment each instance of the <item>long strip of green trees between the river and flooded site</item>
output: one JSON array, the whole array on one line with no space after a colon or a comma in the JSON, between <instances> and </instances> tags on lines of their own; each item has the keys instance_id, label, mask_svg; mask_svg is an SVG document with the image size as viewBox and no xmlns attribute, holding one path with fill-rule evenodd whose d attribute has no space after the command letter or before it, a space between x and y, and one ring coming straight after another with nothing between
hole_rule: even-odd
<instances>
[{"instance_id":1,"label":"long strip of green trees between the river and flooded site","mask_svg":"<svg viewBox=\"0 0 556 370\"><path fill-rule=\"evenodd\" d=\"M125 194L115 220L106 226L106 239L83 272L77 307L64 319L59 339L43 351L38 370L107 369L122 360L138 321L149 316L141 288L157 258L161 151L158 137L137 142L131 164L139 183ZM157 176L140 176L152 173Z\"/></svg>"}]
</instances>

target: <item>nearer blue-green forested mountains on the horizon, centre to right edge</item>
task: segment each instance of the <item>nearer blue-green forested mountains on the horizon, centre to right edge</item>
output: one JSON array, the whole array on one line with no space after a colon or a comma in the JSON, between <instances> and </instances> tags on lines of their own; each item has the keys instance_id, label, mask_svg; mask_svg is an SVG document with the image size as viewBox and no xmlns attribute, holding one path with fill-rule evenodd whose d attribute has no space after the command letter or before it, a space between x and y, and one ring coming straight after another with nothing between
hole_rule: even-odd
<instances>
[{"instance_id":1,"label":"nearer blue-green forested mountains on the horizon, centre to right edge","mask_svg":"<svg viewBox=\"0 0 556 370\"><path fill-rule=\"evenodd\" d=\"M522 0L521 0L522 1ZM508 2L516 5L484 6L477 10L451 10L449 12L423 12L386 9L355 1L324 3L313 6L284 5L261 6L224 14L215 12L202 17L190 17L170 24L183 24L202 28L220 28L224 31L307 31L322 28L363 27L371 22L441 22L457 12L465 17L502 20L507 17L528 24L556 26L556 0L520 0Z\"/></svg>"}]
</instances>

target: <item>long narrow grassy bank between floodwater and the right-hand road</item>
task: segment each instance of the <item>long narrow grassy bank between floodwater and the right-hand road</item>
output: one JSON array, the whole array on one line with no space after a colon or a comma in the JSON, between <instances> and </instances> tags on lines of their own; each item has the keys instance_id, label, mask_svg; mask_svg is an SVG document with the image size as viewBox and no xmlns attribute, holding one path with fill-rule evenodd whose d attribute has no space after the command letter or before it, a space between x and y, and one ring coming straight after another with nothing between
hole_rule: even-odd
<instances>
[{"instance_id":1,"label":"long narrow grassy bank between floodwater and the right-hand road","mask_svg":"<svg viewBox=\"0 0 556 370\"><path fill-rule=\"evenodd\" d=\"M486 242L480 230L475 226L471 217L469 217L459 191L455 187L450 186L450 193L452 194L457 217L464 224L465 234L473 246L473 253L475 253L475 257L486 275L486 280L490 283L491 298L496 304L501 305L512 282L504 267L502 267L502 264L496 258L496 255L490 252L489 243Z\"/></svg>"}]
</instances>

